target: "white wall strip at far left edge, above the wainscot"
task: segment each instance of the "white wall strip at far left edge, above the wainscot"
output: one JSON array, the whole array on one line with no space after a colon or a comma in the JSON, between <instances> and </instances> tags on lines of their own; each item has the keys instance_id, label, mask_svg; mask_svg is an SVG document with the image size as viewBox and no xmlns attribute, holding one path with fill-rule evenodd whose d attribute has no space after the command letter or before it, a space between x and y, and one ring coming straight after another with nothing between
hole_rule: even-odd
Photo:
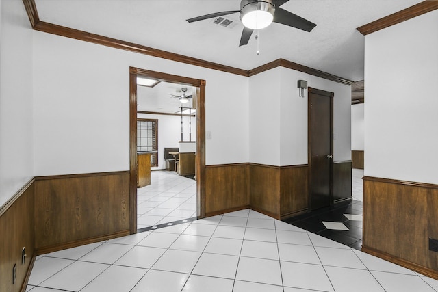
<instances>
[{"instance_id":1,"label":"white wall strip at far left edge, above the wainscot","mask_svg":"<svg viewBox=\"0 0 438 292\"><path fill-rule=\"evenodd\" d=\"M32 33L23 1L0 3L0 207L33 177Z\"/></svg>"}]
</instances>

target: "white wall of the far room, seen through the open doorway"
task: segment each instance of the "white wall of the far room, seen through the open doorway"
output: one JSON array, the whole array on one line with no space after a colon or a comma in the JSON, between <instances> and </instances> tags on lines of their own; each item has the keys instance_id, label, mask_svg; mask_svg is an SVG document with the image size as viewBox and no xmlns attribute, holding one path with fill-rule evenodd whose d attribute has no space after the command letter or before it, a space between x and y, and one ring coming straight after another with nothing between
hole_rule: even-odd
<instances>
[{"instance_id":1,"label":"white wall of the far room, seen through the open doorway","mask_svg":"<svg viewBox=\"0 0 438 292\"><path fill-rule=\"evenodd\" d=\"M138 114L137 118L151 118L158 120L158 167L152 168L152 170L165 169L166 161L164 161L164 148L178 148L178 142L181 141L181 117ZM189 140L188 118L188 116L183 116L184 141ZM196 117L192 117L192 141L196 141Z\"/></svg>"}]
</instances>

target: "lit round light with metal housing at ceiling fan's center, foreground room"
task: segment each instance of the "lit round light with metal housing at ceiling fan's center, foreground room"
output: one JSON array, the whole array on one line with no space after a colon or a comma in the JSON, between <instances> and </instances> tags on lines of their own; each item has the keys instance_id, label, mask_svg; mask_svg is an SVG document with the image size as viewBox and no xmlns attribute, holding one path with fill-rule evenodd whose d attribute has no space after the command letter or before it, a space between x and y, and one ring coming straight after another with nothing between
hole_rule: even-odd
<instances>
[{"instance_id":1,"label":"lit round light with metal housing at ceiling fan's center, foreground room","mask_svg":"<svg viewBox=\"0 0 438 292\"><path fill-rule=\"evenodd\" d=\"M274 20L274 12L272 1L253 1L241 8L240 19L248 29L263 29Z\"/></svg>"}]
</instances>

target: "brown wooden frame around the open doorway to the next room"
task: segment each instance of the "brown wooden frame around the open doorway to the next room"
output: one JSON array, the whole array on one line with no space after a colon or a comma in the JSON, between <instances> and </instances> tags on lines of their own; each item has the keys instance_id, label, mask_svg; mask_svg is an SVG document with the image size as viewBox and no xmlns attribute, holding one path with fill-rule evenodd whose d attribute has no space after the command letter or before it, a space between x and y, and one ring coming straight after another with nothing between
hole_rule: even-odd
<instances>
[{"instance_id":1,"label":"brown wooden frame around the open doorway to the next room","mask_svg":"<svg viewBox=\"0 0 438 292\"><path fill-rule=\"evenodd\" d=\"M199 88L196 105L196 215L205 217L205 80L129 67L129 229L137 233L137 76Z\"/></svg>"}]
</instances>

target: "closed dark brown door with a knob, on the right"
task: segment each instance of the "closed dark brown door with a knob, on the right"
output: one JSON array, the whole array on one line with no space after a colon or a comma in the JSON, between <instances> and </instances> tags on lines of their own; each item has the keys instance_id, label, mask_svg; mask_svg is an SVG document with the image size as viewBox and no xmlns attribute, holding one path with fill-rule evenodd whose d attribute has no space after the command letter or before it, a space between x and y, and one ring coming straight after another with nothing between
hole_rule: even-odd
<instances>
[{"instance_id":1,"label":"closed dark brown door with a knob, on the right","mask_svg":"<svg viewBox=\"0 0 438 292\"><path fill-rule=\"evenodd\" d=\"M333 93L309 88L309 204L333 204Z\"/></svg>"}]
</instances>

